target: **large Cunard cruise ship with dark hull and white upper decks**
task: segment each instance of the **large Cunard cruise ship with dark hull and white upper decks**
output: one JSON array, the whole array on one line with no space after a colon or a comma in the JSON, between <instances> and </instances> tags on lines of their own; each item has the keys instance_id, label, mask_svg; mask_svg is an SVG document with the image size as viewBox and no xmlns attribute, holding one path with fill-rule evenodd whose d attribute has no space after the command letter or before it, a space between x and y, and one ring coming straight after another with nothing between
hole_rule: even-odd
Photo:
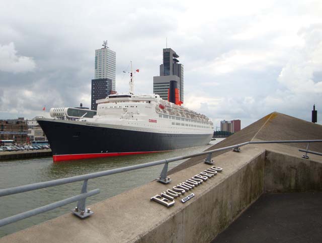
<instances>
[{"instance_id":1,"label":"large Cunard cruise ship with dark hull and white upper decks","mask_svg":"<svg viewBox=\"0 0 322 243\"><path fill-rule=\"evenodd\" d=\"M51 108L51 118L38 118L53 161L155 153L210 142L213 123L205 115L158 94L134 95L131 90L97 100L96 113Z\"/></svg>"}]
</instances>

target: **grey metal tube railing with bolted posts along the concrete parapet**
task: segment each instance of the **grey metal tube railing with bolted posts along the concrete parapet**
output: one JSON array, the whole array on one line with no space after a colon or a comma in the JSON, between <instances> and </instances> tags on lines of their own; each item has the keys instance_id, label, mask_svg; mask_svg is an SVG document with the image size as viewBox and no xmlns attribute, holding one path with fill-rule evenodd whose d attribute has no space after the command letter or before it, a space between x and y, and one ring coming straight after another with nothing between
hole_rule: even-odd
<instances>
[{"instance_id":1,"label":"grey metal tube railing with bolted posts along the concrete parapet","mask_svg":"<svg viewBox=\"0 0 322 243\"><path fill-rule=\"evenodd\" d=\"M17 194L17 193L21 193L21 192L33 191L33 190L37 190L37 189L41 189L41 188L58 186L58 185L62 185L62 184L68 184L68 183L77 182L77 181L84 181L83 186L82 186L82 190L81 190L81 194L76 195L76 196L72 196L72 197L69 197L64 200L57 201L57 202L54 202L54 203L51 203L48 205L45 205L45 206L42 206L39 208L35 208L35 209L29 210L26 212L22 212L22 213L14 215L14 216L10 216L10 217L1 219L0 220L0 227L10 224L10 223L13 223L13 222L16 222L16 221L19 221L19 220L27 218L27 217L34 216L34 215L42 213L42 212L52 210L57 207L64 206L66 204L69 204L69 203L75 202L75 201L77 201L77 206L72 210L72 212L81 218L88 217L89 215L93 214L94 212L90 208L86 208L86 198L100 193L100 189L95 189L95 190L92 190L89 192L87 191L87 183L88 183L89 179L164 164L162 172L156 180L158 182L167 184L167 183L171 182L170 177L168 177L168 164L171 162L189 159L189 158L202 156L202 155L207 155L207 158L205 159L205 163L212 165L214 163L213 160L211 159L212 153L224 151L224 150L230 150L230 149L232 149L234 152L240 152L240 147L242 147L244 145L273 144L273 143L307 143L307 148L305 151L303 151L303 152L306 152L306 156L303 155L303 158L308 159L307 153L312 152L312 151L308 151L309 143L316 143L316 142L322 142L322 140L250 141L250 142L236 144L236 145L232 145L232 146L228 146L228 147L224 147L224 148L220 148L220 149L214 149L214 150L209 150L209 151L205 151L205 152L201 152L201 153L196 153L196 154L192 154L192 155L179 156L179 157L174 157L174 158L170 158L170 159L148 162L148 163L144 163L144 164L138 164L138 165L127 166L127 167L122 167L122 168L117 168L117 169L112 169L112 170L107 170L107 171L95 172L95 173L91 173L91 174L85 174L85 175L79 175L79 176L73 176L73 177L52 180L52 181L38 182L38 183L24 185L24 186L17 186L17 187L12 187L12 188L1 189L0 190L0 197L12 195L12 194ZM302 151L302 150L300 150L300 151ZM317 152L315 152L315 153L317 153ZM317 153L317 154L319 154L319 153ZM319 155L321 155L321 154L319 154Z\"/></svg>"}]
</instances>

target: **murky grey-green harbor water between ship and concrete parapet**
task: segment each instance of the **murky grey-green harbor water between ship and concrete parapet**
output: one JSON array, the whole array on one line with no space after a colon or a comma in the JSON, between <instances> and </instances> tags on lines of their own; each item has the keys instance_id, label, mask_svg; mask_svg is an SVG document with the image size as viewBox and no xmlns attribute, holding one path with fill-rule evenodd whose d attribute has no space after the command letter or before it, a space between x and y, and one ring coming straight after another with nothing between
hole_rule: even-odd
<instances>
[{"instance_id":1,"label":"murky grey-green harbor water between ship and concrete parapet","mask_svg":"<svg viewBox=\"0 0 322 243\"><path fill-rule=\"evenodd\" d=\"M2 161L0 162L0 189L194 154L202 152L222 140L223 139L216 139L206 146L170 152L86 159L55 164L52 162L51 157ZM182 162L183 161L170 163L169 169ZM90 179L88 181L88 191L99 188L101 193L87 198L86 203L87 205L90 205L148 183L159 176L162 168L163 165L159 165ZM81 192L82 184L83 181L0 197L0 218L9 217L17 213L77 195ZM154 195L152 194L153 192L151 192L151 196ZM147 198L147 200L148 199L149 198ZM75 205L76 202L0 227L0 237L70 212Z\"/></svg>"}]
</instances>

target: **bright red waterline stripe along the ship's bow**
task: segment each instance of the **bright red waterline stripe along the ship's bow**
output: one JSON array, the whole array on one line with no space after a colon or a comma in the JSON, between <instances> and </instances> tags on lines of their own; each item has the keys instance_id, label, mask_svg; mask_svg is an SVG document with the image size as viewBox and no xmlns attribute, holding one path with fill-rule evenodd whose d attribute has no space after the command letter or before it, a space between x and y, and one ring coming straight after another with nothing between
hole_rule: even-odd
<instances>
[{"instance_id":1,"label":"bright red waterline stripe along the ship's bow","mask_svg":"<svg viewBox=\"0 0 322 243\"><path fill-rule=\"evenodd\" d=\"M150 154L165 151L146 151L146 152L122 152L122 153L101 153L101 154L76 154L76 155L53 155L53 161L66 161L66 160L81 160L81 159L91 159L91 158L103 158L112 156L123 156L123 155L138 155L138 154Z\"/></svg>"}]
</instances>

